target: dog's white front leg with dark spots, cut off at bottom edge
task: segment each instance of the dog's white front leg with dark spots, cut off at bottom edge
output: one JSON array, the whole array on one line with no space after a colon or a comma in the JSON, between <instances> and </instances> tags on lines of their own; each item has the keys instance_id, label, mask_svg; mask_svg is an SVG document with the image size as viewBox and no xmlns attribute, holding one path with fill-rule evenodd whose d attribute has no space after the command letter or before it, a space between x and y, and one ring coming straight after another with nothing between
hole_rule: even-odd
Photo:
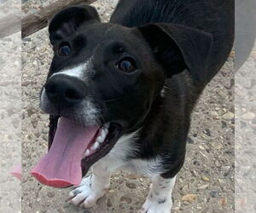
<instances>
[{"instance_id":1,"label":"dog's white front leg with dark spots, cut off at bottom edge","mask_svg":"<svg viewBox=\"0 0 256 213\"><path fill-rule=\"evenodd\" d=\"M169 179L154 176L148 198L140 213L170 213L172 209L172 189L175 181L176 176Z\"/></svg>"}]
</instances>

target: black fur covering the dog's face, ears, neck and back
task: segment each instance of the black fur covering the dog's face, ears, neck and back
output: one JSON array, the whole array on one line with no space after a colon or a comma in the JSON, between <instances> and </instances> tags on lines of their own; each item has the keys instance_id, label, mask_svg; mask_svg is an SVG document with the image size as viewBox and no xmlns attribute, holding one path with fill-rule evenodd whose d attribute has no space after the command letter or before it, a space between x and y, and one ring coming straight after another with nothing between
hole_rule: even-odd
<instances>
[{"instance_id":1,"label":"black fur covering the dog's face, ears, neck and back","mask_svg":"<svg viewBox=\"0 0 256 213\"><path fill-rule=\"evenodd\" d=\"M137 153L127 160L160 156L161 176L171 178L183 166L193 107L232 48L234 1L121 0L107 24L91 7L73 7L51 21L49 37L55 50L49 77L93 54L87 92L101 122L122 124L125 133L140 128ZM73 54L63 58L57 49L67 41ZM124 57L135 61L136 72L117 69ZM49 103L44 111L80 122L79 105L56 110Z\"/></svg>"}]
</instances>

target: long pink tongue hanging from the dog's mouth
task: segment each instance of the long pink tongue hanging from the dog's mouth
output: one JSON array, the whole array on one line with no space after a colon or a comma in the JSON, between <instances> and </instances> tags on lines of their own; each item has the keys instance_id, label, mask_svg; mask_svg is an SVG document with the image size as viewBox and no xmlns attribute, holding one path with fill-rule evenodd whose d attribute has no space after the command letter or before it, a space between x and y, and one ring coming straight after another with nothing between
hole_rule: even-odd
<instances>
[{"instance_id":1,"label":"long pink tongue hanging from the dog's mouth","mask_svg":"<svg viewBox=\"0 0 256 213\"><path fill-rule=\"evenodd\" d=\"M67 118L59 118L49 153L33 167L32 176L50 187L79 185L84 151L98 129L97 126L84 128Z\"/></svg>"}]
</instances>

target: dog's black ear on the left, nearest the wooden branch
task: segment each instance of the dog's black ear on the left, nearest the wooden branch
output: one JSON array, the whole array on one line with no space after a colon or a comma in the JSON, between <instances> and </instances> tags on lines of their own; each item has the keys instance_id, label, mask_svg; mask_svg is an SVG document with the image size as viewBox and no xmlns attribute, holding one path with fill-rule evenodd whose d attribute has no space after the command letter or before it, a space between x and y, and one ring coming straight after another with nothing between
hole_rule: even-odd
<instances>
[{"instance_id":1,"label":"dog's black ear on the left, nearest the wooden branch","mask_svg":"<svg viewBox=\"0 0 256 213\"><path fill-rule=\"evenodd\" d=\"M85 5L63 9L49 22L49 40L54 43L68 37L76 32L79 26L92 21L100 21L99 14L93 7Z\"/></svg>"}]
</instances>

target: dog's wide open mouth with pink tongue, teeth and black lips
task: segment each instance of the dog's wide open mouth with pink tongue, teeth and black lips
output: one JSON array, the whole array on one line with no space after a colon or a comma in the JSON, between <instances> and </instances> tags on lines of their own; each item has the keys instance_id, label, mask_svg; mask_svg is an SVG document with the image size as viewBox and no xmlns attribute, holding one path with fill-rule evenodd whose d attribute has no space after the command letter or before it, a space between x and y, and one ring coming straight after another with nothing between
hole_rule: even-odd
<instances>
[{"instance_id":1,"label":"dog's wide open mouth with pink tongue, teeth and black lips","mask_svg":"<svg viewBox=\"0 0 256 213\"><path fill-rule=\"evenodd\" d=\"M90 166L104 157L122 135L116 123L83 127L51 116L49 152L32 169L32 176L50 187L79 185Z\"/></svg>"}]
</instances>

